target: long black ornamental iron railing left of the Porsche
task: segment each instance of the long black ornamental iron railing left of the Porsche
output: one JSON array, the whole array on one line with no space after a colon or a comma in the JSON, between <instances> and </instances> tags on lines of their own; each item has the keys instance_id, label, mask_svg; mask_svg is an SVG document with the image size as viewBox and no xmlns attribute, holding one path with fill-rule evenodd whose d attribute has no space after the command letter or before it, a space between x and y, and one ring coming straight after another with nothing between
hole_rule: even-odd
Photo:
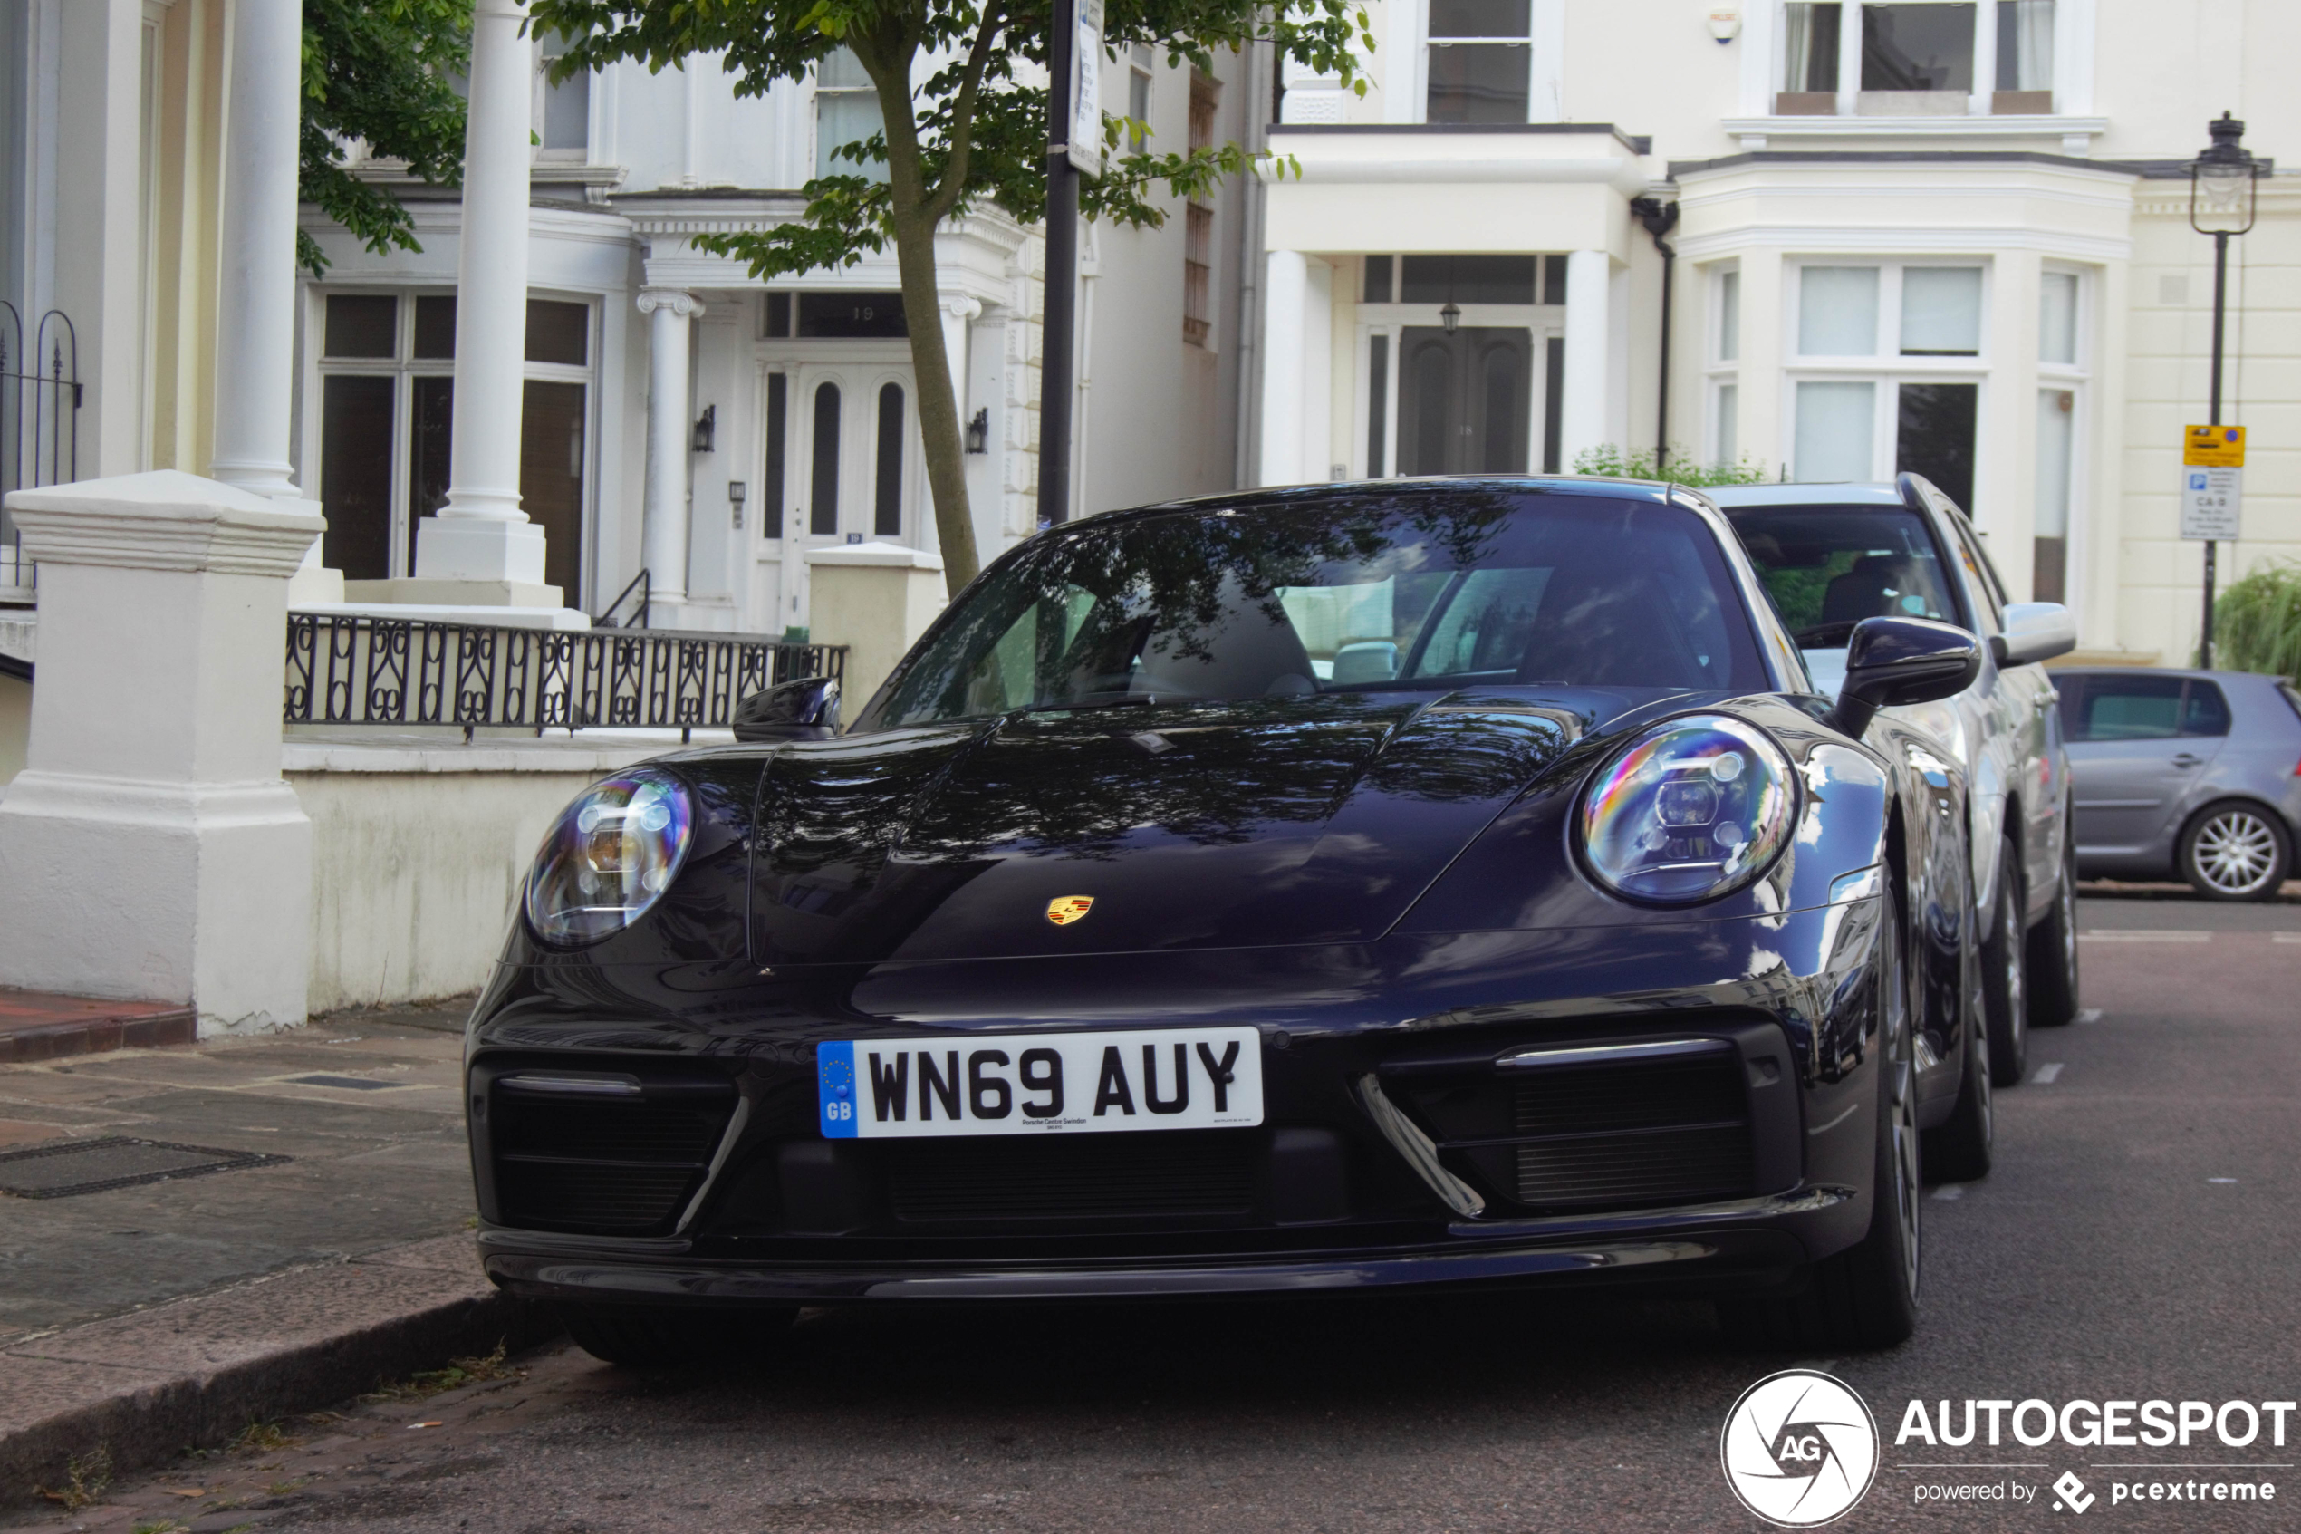
<instances>
[{"instance_id":1,"label":"long black ornamental iron railing left of the Porsche","mask_svg":"<svg viewBox=\"0 0 2301 1534\"><path fill-rule=\"evenodd\" d=\"M798 676L844 676L844 644L670 628L511 628L288 614L288 722L474 729L725 729Z\"/></svg>"}]
</instances>

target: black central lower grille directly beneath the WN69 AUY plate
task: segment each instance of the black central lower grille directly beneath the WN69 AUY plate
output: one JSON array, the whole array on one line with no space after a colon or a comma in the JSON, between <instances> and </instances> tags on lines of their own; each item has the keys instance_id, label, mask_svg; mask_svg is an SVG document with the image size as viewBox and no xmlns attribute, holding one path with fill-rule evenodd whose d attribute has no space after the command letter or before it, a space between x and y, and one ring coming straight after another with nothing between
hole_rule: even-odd
<instances>
[{"instance_id":1,"label":"black central lower grille directly beneath the WN69 AUY plate","mask_svg":"<svg viewBox=\"0 0 2301 1534\"><path fill-rule=\"evenodd\" d=\"M890 1143L881 1164L897 1221L1243 1219L1259 1136L1063 1134Z\"/></svg>"}]
</instances>

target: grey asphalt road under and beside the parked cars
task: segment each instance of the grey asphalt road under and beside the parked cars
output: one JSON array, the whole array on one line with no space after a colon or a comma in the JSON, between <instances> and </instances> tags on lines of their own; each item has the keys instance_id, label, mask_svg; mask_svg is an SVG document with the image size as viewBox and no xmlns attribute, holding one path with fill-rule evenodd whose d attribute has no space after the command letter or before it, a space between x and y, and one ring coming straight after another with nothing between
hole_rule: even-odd
<instances>
[{"instance_id":1,"label":"grey asphalt road under and beside the parked cars","mask_svg":"<svg viewBox=\"0 0 2301 1534\"><path fill-rule=\"evenodd\" d=\"M780 1368L647 1378L559 1348L44 1527L1765 1527L1728 1495L1719 1428L1792 1364L1850 1382L1885 1433L1836 1527L2052 1527L2062 1472L2087 1483L2085 1527L2294 1527L2301 1414L2285 1449L2266 1431L2243 1449L1894 1442L1912 1398L2301 1398L2301 904L2087 899L2080 925L2103 934L2085 943L2099 1019L2034 1035L1995 1175L1928 1196L1926 1318L1894 1352L1740 1350L1698 1302L821 1313ZM2112 1502L2151 1479L2278 1500ZM2006 1500L1919 1502L1954 1486Z\"/></svg>"}]
</instances>

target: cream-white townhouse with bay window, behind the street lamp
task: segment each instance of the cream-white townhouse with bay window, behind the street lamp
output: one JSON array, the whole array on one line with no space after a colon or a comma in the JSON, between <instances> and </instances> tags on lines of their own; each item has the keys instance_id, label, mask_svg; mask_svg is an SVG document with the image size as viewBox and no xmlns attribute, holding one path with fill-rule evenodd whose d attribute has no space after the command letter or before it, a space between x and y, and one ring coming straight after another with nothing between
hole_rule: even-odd
<instances>
[{"instance_id":1,"label":"cream-white townhouse with bay window, behind the street lamp","mask_svg":"<svg viewBox=\"0 0 2301 1534\"><path fill-rule=\"evenodd\" d=\"M1300 175L1266 186L1261 483L1572 469L1652 451L1666 407L1700 460L1928 474L2087 653L2186 665L2214 301L2188 161L2230 110L2280 175L2230 255L2223 582L2301 554L2301 5L1369 11L1374 87L1289 71L1270 129Z\"/></svg>"}]
</instances>

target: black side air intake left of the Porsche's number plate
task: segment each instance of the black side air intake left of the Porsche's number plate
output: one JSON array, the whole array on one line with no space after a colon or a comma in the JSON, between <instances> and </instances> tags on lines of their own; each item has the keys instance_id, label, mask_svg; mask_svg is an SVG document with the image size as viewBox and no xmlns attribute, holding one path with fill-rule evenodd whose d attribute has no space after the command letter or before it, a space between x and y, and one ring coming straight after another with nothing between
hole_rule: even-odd
<instances>
[{"instance_id":1,"label":"black side air intake left of the Porsche's number plate","mask_svg":"<svg viewBox=\"0 0 2301 1534\"><path fill-rule=\"evenodd\" d=\"M591 1076L603 1079L603 1076ZM665 1235L734 1113L725 1081L619 1076L630 1095L522 1088L488 1097L497 1219L529 1230Z\"/></svg>"}]
</instances>

